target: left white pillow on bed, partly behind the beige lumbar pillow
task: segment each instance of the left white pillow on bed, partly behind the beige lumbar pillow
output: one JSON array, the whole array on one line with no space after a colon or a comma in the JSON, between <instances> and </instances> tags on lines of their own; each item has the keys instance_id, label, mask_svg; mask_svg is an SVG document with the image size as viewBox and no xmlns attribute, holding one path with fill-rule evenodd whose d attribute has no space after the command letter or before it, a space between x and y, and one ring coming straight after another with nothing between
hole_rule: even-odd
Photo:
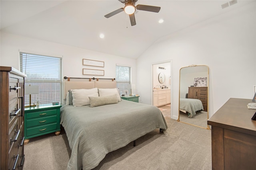
<instances>
[{"instance_id":1,"label":"left white pillow on bed, partly behind the beige lumbar pillow","mask_svg":"<svg viewBox=\"0 0 256 170\"><path fill-rule=\"evenodd\" d=\"M98 88L92 89L74 89L72 91L73 106L90 105L89 96L99 96Z\"/></svg>"}]
</instances>

